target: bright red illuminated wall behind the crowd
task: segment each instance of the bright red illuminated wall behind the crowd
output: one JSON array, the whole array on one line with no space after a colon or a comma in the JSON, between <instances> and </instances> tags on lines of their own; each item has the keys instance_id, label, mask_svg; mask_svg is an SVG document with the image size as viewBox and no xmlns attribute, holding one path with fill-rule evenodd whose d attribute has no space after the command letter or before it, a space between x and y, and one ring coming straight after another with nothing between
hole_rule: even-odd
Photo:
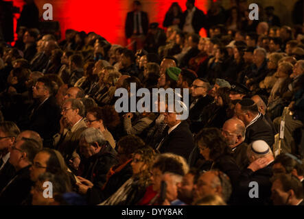
<instances>
[{"instance_id":1,"label":"bright red illuminated wall behind the crowd","mask_svg":"<svg viewBox=\"0 0 304 219\"><path fill-rule=\"evenodd\" d=\"M165 12L172 2L177 1L183 10L186 9L186 0L141 0L143 10L148 12L149 21L163 23ZM109 42L126 44L124 23L126 14L132 10L133 0L35 0L40 16L43 14L43 5L53 5L54 21L60 22L62 37L65 29L77 31L95 31L104 36ZM207 11L208 0L196 0L196 6ZM21 7L23 0L14 0L14 5Z\"/></svg>"}]
</instances>

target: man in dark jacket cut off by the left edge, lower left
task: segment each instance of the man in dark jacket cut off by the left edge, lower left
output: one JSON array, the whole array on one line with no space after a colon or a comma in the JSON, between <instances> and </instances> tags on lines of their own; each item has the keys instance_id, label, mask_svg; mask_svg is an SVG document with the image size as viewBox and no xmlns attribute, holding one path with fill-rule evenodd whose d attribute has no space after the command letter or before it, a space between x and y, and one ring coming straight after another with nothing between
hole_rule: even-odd
<instances>
[{"instance_id":1,"label":"man in dark jacket cut off by the left edge, lower left","mask_svg":"<svg viewBox=\"0 0 304 219\"><path fill-rule=\"evenodd\" d=\"M16 142L20 130L15 123L4 121L0 123L0 190L14 177L16 170L8 162L10 147Z\"/></svg>"}]
</instances>

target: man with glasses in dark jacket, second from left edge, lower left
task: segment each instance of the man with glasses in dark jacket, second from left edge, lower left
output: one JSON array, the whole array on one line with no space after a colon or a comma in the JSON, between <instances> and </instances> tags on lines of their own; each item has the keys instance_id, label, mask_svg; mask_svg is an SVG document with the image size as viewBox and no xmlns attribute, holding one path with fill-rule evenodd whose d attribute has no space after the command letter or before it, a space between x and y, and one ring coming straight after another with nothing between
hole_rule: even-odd
<instances>
[{"instance_id":1,"label":"man with glasses in dark jacket, second from left edge, lower left","mask_svg":"<svg viewBox=\"0 0 304 219\"><path fill-rule=\"evenodd\" d=\"M30 166L41 146L32 139L22 138L10 147L9 162L14 166L16 175L0 192L0 205L21 205L30 194L32 181Z\"/></svg>"}]
</instances>

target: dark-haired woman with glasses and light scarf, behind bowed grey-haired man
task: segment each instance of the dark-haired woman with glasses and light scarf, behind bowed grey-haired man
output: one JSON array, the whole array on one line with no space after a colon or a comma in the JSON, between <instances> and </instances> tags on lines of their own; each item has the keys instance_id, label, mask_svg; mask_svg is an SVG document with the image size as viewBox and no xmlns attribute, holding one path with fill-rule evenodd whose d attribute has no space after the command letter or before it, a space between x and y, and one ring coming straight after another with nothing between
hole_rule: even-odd
<instances>
[{"instance_id":1,"label":"dark-haired woman with glasses and light scarf, behind bowed grey-haired man","mask_svg":"<svg viewBox=\"0 0 304 219\"><path fill-rule=\"evenodd\" d=\"M115 149L115 140L108 131L117 127L120 123L119 116L114 107L105 105L104 107L93 107L86 113L86 125L91 128L100 129L104 134L104 138L110 143L110 146Z\"/></svg>"}]
</instances>

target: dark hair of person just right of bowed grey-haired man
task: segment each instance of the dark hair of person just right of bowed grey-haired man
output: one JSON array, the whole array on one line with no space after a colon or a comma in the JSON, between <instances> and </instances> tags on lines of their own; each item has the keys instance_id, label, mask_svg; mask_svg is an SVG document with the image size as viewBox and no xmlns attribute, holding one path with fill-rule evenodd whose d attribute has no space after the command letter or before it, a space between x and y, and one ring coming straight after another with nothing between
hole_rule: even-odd
<instances>
[{"instance_id":1,"label":"dark hair of person just right of bowed grey-haired man","mask_svg":"<svg viewBox=\"0 0 304 219\"><path fill-rule=\"evenodd\" d=\"M122 137L117 142L117 148L119 146L127 157L131 157L132 153L134 153L137 149L143 149L145 142L143 142L143 140L137 136L128 135Z\"/></svg>"}]
</instances>

